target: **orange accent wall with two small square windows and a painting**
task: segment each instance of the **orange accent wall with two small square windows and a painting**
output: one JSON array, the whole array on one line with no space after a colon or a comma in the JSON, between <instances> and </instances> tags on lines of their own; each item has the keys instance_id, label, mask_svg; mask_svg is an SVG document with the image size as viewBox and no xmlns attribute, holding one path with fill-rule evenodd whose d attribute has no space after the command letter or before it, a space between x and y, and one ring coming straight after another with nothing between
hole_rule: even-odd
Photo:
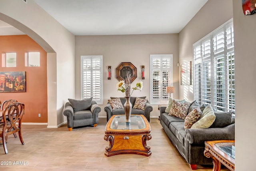
<instances>
[{"instance_id":1,"label":"orange accent wall with two small square windows and a painting","mask_svg":"<svg viewBox=\"0 0 256 171\"><path fill-rule=\"evenodd\" d=\"M27 35L0 36L0 52L16 52L16 67L2 67L1 59L0 72L26 72L26 92L0 93L0 100L16 99L24 103L22 122L47 123L46 52ZM40 67L25 67L25 52L40 52ZM41 113L41 117L38 117L38 113Z\"/></svg>"}]
</instances>

